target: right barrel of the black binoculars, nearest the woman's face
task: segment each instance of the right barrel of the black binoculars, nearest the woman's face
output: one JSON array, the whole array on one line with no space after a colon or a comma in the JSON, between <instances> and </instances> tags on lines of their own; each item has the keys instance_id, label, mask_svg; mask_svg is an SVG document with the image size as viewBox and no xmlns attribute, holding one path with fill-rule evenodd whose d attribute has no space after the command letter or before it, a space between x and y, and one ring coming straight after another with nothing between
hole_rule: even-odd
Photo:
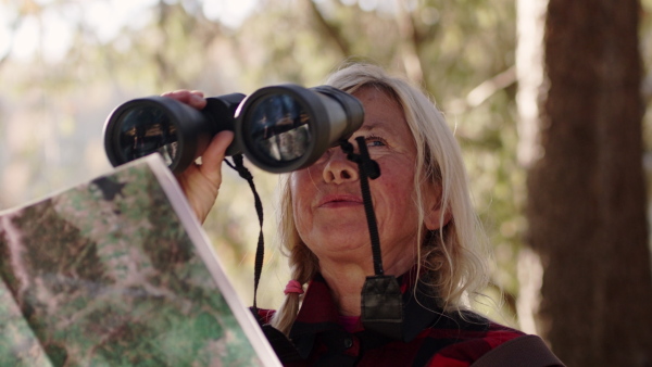
<instances>
[{"instance_id":1,"label":"right barrel of the black binoculars, nearest the woman's face","mask_svg":"<svg viewBox=\"0 0 652 367\"><path fill-rule=\"evenodd\" d=\"M286 173L305 168L358 130L362 103L339 89L297 85L265 87L237 111L236 140L262 169Z\"/></svg>"}]
</instances>

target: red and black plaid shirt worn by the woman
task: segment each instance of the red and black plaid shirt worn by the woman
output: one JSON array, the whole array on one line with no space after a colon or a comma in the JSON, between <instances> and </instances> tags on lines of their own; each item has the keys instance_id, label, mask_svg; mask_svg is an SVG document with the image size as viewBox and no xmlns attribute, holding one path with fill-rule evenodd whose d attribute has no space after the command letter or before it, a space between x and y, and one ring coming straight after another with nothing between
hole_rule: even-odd
<instances>
[{"instance_id":1,"label":"red and black plaid shirt worn by the woman","mask_svg":"<svg viewBox=\"0 0 652 367\"><path fill-rule=\"evenodd\" d=\"M421 298L416 302L409 278L403 277L401 286L403 338L397 340L364 330L362 325L347 332L339 322L326 281L317 275L308 288L289 334L301 359L283 360L284 356L279 355L284 365L466 367L498 345L524 334L471 312L461 317L456 313L429 311L437 306ZM263 322L273 314L259 311ZM267 337L276 344L274 338Z\"/></svg>"}]
</instances>

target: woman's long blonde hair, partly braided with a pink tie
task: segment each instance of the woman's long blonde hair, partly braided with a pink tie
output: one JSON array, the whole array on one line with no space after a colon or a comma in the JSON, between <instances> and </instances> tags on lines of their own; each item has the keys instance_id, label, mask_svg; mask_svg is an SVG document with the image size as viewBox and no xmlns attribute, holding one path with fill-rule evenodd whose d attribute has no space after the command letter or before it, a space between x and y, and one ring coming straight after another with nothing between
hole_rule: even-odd
<instances>
[{"instance_id":1,"label":"woman's long blonde hair, partly braided with a pink tie","mask_svg":"<svg viewBox=\"0 0 652 367\"><path fill-rule=\"evenodd\" d=\"M469 197L466 170L460 147L442 113L418 88L402 78L391 77L371 64L349 64L335 72L328 85L354 93L361 88L377 88L403 109L416 145L414 200L419 223L424 223L423 184L441 186L440 229L418 233L418 280L439 299L444 312L466 308L464 298L475 295L487 284L486 237ZM318 271L318 260L302 242L292 217L289 179L281 184L279 236L288 256L291 278L301 284ZM423 226L419 226L419 228ZM416 288L415 288L416 289ZM288 333L301 302L289 293L272 319L272 325Z\"/></svg>"}]
</instances>

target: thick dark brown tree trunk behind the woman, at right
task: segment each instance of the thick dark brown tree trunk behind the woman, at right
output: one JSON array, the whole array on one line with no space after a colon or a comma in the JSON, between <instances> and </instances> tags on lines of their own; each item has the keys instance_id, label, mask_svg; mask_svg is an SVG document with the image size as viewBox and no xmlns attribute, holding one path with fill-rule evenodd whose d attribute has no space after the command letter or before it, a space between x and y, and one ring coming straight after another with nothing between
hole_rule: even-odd
<instances>
[{"instance_id":1,"label":"thick dark brown tree trunk behind the woman, at right","mask_svg":"<svg viewBox=\"0 0 652 367\"><path fill-rule=\"evenodd\" d=\"M550 0L528 242L539 332L568 366L652 364L637 0Z\"/></svg>"}]
</instances>

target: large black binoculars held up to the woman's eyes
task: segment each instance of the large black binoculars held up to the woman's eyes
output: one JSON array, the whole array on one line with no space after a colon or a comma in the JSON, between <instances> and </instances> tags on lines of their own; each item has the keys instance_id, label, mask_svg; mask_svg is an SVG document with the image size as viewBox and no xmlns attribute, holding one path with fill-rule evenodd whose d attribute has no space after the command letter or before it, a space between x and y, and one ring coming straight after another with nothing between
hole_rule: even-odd
<instances>
[{"instance_id":1,"label":"large black binoculars held up to the woman's eyes","mask_svg":"<svg viewBox=\"0 0 652 367\"><path fill-rule=\"evenodd\" d=\"M220 131L233 130L226 154L243 153L258 167L286 173L310 166L362 126L364 110L353 96L329 86L271 86L249 97L206 98L196 110L165 97L130 100L104 125L104 149L117 166L160 153L170 169L184 172Z\"/></svg>"}]
</instances>

